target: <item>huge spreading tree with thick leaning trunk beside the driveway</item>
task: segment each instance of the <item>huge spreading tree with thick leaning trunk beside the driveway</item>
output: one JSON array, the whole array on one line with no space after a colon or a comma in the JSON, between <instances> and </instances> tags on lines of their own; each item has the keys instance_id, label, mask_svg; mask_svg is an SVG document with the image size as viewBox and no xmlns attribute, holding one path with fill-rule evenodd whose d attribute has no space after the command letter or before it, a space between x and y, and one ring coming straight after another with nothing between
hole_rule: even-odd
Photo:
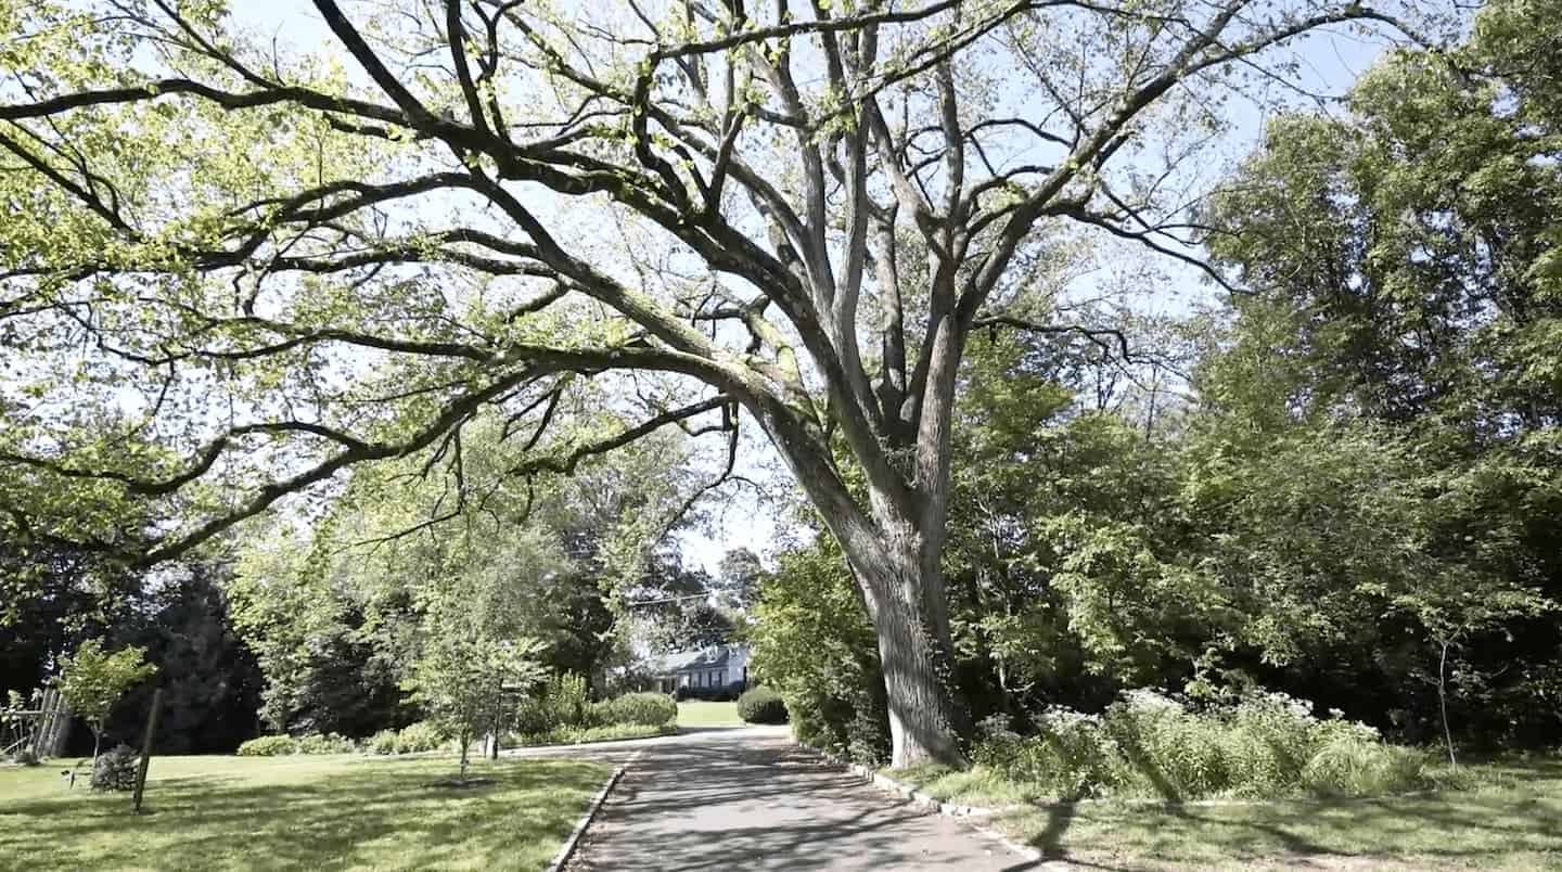
<instances>
[{"instance_id":1,"label":"huge spreading tree with thick leaning trunk beside the driveway","mask_svg":"<svg viewBox=\"0 0 1562 872\"><path fill-rule=\"evenodd\" d=\"M669 425L736 450L744 409L851 569L897 766L961 758L968 334L1114 344L1045 320L1070 228L1187 259L1211 97L1293 81L1275 50L1318 28L1409 30L1336 0L314 5L320 55L216 2L0 3L0 519L155 563L350 464L459 463L484 406L534 449L515 477ZM550 431L559 403L595 425Z\"/></svg>"}]
</instances>

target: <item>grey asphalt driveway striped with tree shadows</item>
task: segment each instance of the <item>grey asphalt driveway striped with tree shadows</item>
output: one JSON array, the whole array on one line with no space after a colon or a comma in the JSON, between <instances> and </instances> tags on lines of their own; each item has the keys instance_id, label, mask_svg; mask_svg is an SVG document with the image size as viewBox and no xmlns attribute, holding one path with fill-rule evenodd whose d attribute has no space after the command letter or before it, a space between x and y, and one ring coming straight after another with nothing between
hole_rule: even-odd
<instances>
[{"instance_id":1,"label":"grey asphalt driveway striped with tree shadows","mask_svg":"<svg viewBox=\"0 0 1562 872\"><path fill-rule=\"evenodd\" d=\"M690 731L594 756L629 759L629 769L572 872L1036 867L959 820L864 784L786 728Z\"/></svg>"}]
</instances>

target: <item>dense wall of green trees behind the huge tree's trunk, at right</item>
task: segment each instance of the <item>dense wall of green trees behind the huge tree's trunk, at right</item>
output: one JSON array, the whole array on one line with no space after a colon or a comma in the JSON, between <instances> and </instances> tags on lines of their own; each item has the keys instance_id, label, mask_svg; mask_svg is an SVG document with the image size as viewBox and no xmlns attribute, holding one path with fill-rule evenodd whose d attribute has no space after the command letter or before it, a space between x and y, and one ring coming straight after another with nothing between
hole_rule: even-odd
<instances>
[{"instance_id":1,"label":"dense wall of green trees behind the huge tree's trunk, at right","mask_svg":"<svg viewBox=\"0 0 1562 872\"><path fill-rule=\"evenodd\" d=\"M972 344L947 574L973 714L1264 686L1401 741L1562 739L1559 13L1487 3L1275 119L1200 213L1245 291L1140 322L1131 363ZM795 608L839 597L828 553L779 561L756 664L872 749L872 652Z\"/></svg>"}]
</instances>

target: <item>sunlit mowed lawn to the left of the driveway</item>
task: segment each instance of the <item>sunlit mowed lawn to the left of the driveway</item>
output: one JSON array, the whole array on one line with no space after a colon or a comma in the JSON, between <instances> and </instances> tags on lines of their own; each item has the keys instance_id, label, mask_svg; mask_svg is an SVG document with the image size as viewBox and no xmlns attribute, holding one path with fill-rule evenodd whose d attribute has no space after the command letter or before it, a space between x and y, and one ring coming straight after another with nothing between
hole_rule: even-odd
<instances>
[{"instance_id":1,"label":"sunlit mowed lawn to the left of the driveway","mask_svg":"<svg viewBox=\"0 0 1562 872\"><path fill-rule=\"evenodd\" d=\"M167 756L145 806L0 770L0 869L544 869L609 769L587 761Z\"/></svg>"}]
</instances>

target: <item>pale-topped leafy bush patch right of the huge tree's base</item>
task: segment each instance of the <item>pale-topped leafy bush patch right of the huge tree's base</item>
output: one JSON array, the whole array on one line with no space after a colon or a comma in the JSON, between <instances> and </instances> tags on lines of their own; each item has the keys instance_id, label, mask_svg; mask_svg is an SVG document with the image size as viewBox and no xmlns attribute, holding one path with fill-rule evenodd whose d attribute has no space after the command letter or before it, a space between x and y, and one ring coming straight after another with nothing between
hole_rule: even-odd
<instances>
[{"instance_id":1,"label":"pale-topped leafy bush patch right of the huge tree's base","mask_svg":"<svg viewBox=\"0 0 1562 872\"><path fill-rule=\"evenodd\" d=\"M1131 691L1103 716L1048 709L1034 736L984 733L979 766L1064 799L1373 795L1426 783L1420 752L1385 745L1371 727L1318 720L1282 694L1195 711Z\"/></svg>"}]
</instances>

